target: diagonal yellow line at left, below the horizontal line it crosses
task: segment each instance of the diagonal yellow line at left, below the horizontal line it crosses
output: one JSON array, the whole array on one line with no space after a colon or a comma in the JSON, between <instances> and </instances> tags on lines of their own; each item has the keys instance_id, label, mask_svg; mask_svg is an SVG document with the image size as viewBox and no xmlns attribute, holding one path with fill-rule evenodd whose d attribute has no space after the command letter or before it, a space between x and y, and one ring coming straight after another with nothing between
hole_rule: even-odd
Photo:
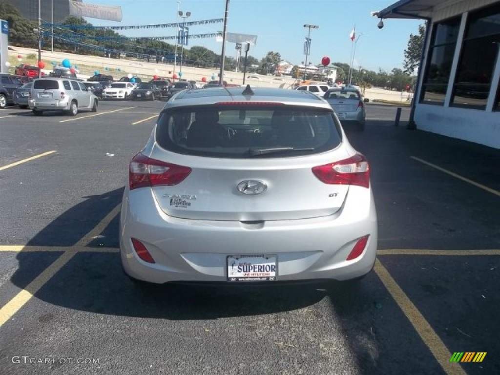
<instances>
[{"instance_id":1,"label":"diagonal yellow line at left, below the horizontal line it crosses","mask_svg":"<svg viewBox=\"0 0 500 375\"><path fill-rule=\"evenodd\" d=\"M23 290L10 299L0 308L0 327L12 317L50 278L66 264L76 252L66 251L62 253L52 264L43 270Z\"/></svg>"}]
</instances>

